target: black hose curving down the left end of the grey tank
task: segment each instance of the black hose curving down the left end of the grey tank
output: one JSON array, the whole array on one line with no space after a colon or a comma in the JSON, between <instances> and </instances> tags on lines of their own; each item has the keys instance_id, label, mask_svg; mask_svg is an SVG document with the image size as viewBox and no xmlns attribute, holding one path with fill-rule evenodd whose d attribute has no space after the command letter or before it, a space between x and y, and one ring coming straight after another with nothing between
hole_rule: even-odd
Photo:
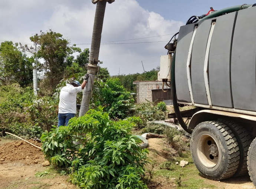
<instances>
[{"instance_id":1,"label":"black hose curving down the left end of the grey tank","mask_svg":"<svg viewBox=\"0 0 256 189\"><path fill-rule=\"evenodd\" d=\"M184 122L181 114L180 109L178 107L177 98L176 98L176 85L175 85L175 54L176 50L173 54L173 60L171 61L171 97L173 100L173 108L176 114L176 117L180 123L180 126L189 134L192 134L192 130L188 129L186 123Z\"/></svg>"}]
</instances>

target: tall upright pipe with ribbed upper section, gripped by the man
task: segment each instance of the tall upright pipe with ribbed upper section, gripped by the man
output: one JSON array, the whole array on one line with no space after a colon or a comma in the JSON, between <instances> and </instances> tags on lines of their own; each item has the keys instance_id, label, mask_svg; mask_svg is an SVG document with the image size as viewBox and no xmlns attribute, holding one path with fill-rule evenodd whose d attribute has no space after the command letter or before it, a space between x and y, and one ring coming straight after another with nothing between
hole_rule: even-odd
<instances>
[{"instance_id":1,"label":"tall upright pipe with ribbed upper section, gripped by the man","mask_svg":"<svg viewBox=\"0 0 256 189\"><path fill-rule=\"evenodd\" d=\"M88 82L83 90L83 98L81 102L81 109L79 117L83 116L89 110L89 104L92 97L92 88L94 83L94 77L98 70L99 62L99 48L101 46L101 33L105 15L106 0L98 1L96 6L93 32L92 32L92 44L89 56L89 64L87 66L87 73L89 74Z\"/></svg>"}]
</instances>

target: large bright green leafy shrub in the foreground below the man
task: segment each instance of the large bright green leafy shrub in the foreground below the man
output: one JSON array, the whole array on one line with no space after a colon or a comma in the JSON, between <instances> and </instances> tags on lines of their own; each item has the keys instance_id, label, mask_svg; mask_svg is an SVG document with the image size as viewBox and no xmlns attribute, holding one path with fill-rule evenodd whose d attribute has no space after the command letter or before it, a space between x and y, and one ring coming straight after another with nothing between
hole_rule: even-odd
<instances>
[{"instance_id":1,"label":"large bright green leafy shrub in the foreground below the man","mask_svg":"<svg viewBox=\"0 0 256 189\"><path fill-rule=\"evenodd\" d=\"M81 188L147 189L140 179L148 150L131 135L133 119L111 121L103 108L89 110L70 119L68 127L43 133L45 158L55 168L69 168L72 183Z\"/></svg>"}]
</instances>

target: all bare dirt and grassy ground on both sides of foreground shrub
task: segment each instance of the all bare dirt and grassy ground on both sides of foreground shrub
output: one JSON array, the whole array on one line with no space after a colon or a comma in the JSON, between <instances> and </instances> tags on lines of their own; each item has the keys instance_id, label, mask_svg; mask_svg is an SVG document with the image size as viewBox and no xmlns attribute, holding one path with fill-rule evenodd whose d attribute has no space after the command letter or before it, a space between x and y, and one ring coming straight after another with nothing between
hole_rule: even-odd
<instances>
[{"instance_id":1,"label":"all bare dirt and grassy ground on both sides of foreground shrub","mask_svg":"<svg viewBox=\"0 0 256 189\"><path fill-rule=\"evenodd\" d=\"M49 167L42 166L45 159L37 148L25 142L15 147L16 141L0 139L0 189L76 189L68 182L68 176L60 175ZM36 141L30 140L30 142L40 146ZM170 158L164 148L163 139L150 138L148 142L149 157L154 164L153 168L151 166L153 178L148 185L149 189L255 189L249 175L220 182L205 179L200 176L191 157L184 158L189 162L184 168L177 165L177 170L164 171L160 169L160 165L174 159ZM50 174L36 178L37 171L47 171ZM181 186L178 187L176 180L179 172L182 172L183 176L181 176Z\"/></svg>"}]
</instances>

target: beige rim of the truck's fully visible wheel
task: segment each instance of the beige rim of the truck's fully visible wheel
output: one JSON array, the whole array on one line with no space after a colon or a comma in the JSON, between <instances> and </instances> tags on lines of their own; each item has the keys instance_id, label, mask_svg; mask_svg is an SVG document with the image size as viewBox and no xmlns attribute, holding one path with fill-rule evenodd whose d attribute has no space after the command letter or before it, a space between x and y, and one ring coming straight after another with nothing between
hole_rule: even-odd
<instances>
[{"instance_id":1,"label":"beige rim of the truck's fully visible wheel","mask_svg":"<svg viewBox=\"0 0 256 189\"><path fill-rule=\"evenodd\" d=\"M216 141L208 134L203 134L197 141L197 156L207 168L213 168L219 161L219 147Z\"/></svg>"}]
</instances>

